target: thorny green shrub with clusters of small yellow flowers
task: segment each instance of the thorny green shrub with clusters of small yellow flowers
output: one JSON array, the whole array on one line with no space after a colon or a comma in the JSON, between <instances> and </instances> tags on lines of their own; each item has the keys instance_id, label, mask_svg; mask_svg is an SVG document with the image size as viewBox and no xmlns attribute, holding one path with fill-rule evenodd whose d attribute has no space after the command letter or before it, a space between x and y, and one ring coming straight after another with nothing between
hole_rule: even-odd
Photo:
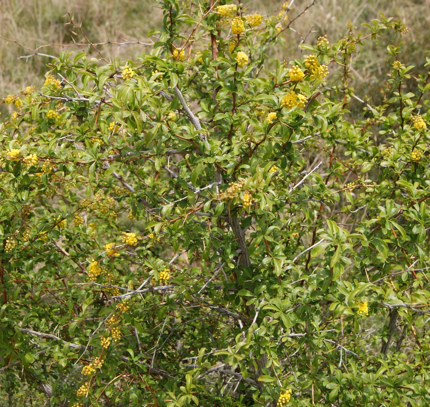
<instances>
[{"instance_id":1,"label":"thorny green shrub with clusters of small yellow flowers","mask_svg":"<svg viewBox=\"0 0 430 407\"><path fill-rule=\"evenodd\" d=\"M64 52L5 98L3 402L428 405L430 75L396 43L383 105L349 87L405 27L265 70L288 10L232 35L185 6L136 60Z\"/></svg>"}]
</instances>

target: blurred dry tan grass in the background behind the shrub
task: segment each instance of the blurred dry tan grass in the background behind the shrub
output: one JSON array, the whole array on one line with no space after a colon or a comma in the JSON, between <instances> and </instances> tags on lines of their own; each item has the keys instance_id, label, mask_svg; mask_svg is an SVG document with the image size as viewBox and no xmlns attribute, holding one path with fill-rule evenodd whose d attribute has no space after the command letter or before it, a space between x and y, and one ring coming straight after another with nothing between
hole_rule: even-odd
<instances>
[{"instance_id":1,"label":"blurred dry tan grass in the background behind the shrub","mask_svg":"<svg viewBox=\"0 0 430 407\"><path fill-rule=\"evenodd\" d=\"M294 17L312 0L296 0L290 16ZM270 15L280 8L283 1L251 0L246 3L249 12L260 12ZM70 44L73 40L80 42L79 35L73 32L67 13L79 23L88 39L93 42L146 40L146 33L161 25L162 15L152 1L139 0L4 0L0 14L0 35L18 41L30 50L42 44ZM296 20L292 29L285 33L287 45L278 51L279 59L292 60L300 56L297 43L304 36L307 42L315 43L319 35L327 34L331 41L336 41L346 34L351 22L355 32L362 31L363 22L378 18L379 11L386 17L393 16L411 28L405 36L402 62L418 65L423 69L422 50L430 49L427 35L430 25L430 0L316 0L315 5L302 17ZM384 40L383 43L386 41ZM399 42L399 40L397 40ZM388 43L388 42L386 42ZM133 58L144 51L143 46L101 46L107 59L117 56L120 59ZM71 50L71 49L70 49ZM73 47L79 51L79 47ZM61 47L50 46L40 52L57 56ZM88 51L88 50L87 50ZM16 43L0 40L0 97L16 92L28 84L40 85L43 75L48 70L46 57L32 57L28 60L17 59L28 55L29 51ZM385 76L384 63L388 55L385 47L367 48L358 57L359 72L354 72L354 86L360 95L375 96L379 83Z\"/></svg>"}]
</instances>

